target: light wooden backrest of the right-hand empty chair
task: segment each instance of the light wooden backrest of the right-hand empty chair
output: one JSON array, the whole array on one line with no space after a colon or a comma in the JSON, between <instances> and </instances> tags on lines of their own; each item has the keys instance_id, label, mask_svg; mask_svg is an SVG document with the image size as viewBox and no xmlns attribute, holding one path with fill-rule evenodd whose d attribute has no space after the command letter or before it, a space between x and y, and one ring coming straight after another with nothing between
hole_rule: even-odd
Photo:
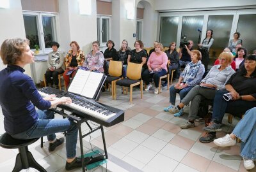
<instances>
[{"instance_id":1,"label":"light wooden backrest of the right-hand empty chair","mask_svg":"<svg viewBox=\"0 0 256 172\"><path fill-rule=\"evenodd\" d=\"M141 63L128 62L127 77L131 80L140 80L142 65Z\"/></svg>"}]
</instances>

